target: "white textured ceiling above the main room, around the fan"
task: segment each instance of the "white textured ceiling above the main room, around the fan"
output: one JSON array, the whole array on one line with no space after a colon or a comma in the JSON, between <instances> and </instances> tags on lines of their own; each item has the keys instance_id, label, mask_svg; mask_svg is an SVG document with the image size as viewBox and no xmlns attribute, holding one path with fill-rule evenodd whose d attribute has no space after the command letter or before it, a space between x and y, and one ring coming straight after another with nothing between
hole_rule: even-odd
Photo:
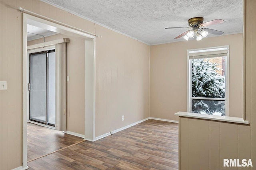
<instances>
[{"instance_id":1,"label":"white textured ceiling above the main room, around the fan","mask_svg":"<svg viewBox=\"0 0 256 170\"><path fill-rule=\"evenodd\" d=\"M150 45L183 41L174 39L188 29L188 19L204 22L222 19L225 23L207 28L224 34L241 33L243 0L43 0L101 25L120 31ZM208 35L208 37L213 35Z\"/></svg>"}]
</instances>

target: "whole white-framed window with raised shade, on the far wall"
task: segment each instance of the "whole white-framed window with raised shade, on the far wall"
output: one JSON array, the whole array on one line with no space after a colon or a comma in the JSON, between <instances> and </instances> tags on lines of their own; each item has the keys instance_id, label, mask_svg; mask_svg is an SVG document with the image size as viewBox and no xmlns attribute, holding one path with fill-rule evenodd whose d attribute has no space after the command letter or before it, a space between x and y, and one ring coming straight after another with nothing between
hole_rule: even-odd
<instances>
[{"instance_id":1,"label":"whole white-framed window with raised shade, on the far wall","mask_svg":"<svg viewBox=\"0 0 256 170\"><path fill-rule=\"evenodd\" d=\"M188 50L188 112L228 116L228 50Z\"/></svg>"}]
</instances>

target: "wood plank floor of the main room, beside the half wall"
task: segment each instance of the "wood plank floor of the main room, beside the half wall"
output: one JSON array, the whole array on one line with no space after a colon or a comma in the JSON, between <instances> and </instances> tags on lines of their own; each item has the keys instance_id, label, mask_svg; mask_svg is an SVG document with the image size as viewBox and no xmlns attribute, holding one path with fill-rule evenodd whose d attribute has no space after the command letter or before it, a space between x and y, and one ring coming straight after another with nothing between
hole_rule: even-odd
<instances>
[{"instance_id":1,"label":"wood plank floor of the main room, beside the half wall","mask_svg":"<svg viewBox=\"0 0 256 170\"><path fill-rule=\"evenodd\" d=\"M178 170L178 124L147 120L28 162L29 170Z\"/></svg>"}]
</instances>

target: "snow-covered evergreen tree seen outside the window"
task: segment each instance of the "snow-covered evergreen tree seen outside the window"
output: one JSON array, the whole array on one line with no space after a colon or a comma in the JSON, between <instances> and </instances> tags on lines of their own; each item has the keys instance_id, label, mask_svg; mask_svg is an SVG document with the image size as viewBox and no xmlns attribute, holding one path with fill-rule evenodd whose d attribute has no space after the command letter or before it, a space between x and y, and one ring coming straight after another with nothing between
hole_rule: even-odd
<instances>
[{"instance_id":1,"label":"snow-covered evergreen tree seen outside the window","mask_svg":"<svg viewBox=\"0 0 256 170\"><path fill-rule=\"evenodd\" d=\"M216 70L218 64L210 63L206 59L194 59L192 62L192 96L204 98L225 97L225 77ZM225 115L224 101L192 99L192 111L212 114L214 112Z\"/></svg>"}]
</instances>

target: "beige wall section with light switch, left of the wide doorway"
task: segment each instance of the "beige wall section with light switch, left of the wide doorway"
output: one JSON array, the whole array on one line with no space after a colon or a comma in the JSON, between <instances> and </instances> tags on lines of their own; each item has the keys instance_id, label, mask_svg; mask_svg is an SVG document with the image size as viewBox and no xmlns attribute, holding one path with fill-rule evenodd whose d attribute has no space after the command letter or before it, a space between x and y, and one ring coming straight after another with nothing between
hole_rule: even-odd
<instances>
[{"instance_id":1,"label":"beige wall section with light switch, left of the wide doorway","mask_svg":"<svg viewBox=\"0 0 256 170\"><path fill-rule=\"evenodd\" d=\"M0 3L0 170L22 165L22 20L12 6ZM18 20L16 19L18 17ZM17 26L19 25L19 26Z\"/></svg>"}]
</instances>

